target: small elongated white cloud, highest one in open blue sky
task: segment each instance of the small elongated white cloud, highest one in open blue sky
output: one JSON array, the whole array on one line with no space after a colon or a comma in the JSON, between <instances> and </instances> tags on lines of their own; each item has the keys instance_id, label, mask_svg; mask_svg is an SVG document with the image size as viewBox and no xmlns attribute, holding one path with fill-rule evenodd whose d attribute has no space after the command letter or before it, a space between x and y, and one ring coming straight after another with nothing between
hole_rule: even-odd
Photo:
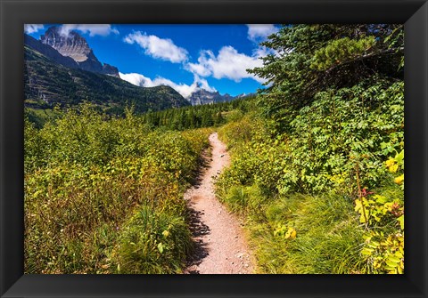
<instances>
[{"instance_id":1,"label":"small elongated white cloud, highest one in open blue sky","mask_svg":"<svg viewBox=\"0 0 428 298\"><path fill-rule=\"evenodd\" d=\"M124 38L127 44L140 45L145 54L153 58L161 60L169 60L173 63L179 63L187 60L188 52L174 44L169 38L160 38L158 36L148 36L146 33L142 34L140 31L131 33Z\"/></svg>"}]
</instances>

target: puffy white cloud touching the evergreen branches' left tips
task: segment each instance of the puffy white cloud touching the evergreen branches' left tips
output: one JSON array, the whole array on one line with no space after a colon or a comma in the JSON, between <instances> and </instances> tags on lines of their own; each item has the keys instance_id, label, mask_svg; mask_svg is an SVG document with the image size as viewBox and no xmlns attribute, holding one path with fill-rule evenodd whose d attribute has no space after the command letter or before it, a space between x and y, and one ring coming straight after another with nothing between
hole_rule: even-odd
<instances>
[{"instance_id":1,"label":"puffy white cloud touching the evergreen branches' left tips","mask_svg":"<svg viewBox=\"0 0 428 298\"><path fill-rule=\"evenodd\" d=\"M228 78L237 83L241 82L243 78L251 77L260 83L264 83L263 79L249 74L246 69L263 66L260 57L267 54L266 49L258 48L251 56L248 56L227 45L220 49L217 56L210 50L202 51L198 62L187 63L185 68L201 77Z\"/></svg>"}]
</instances>

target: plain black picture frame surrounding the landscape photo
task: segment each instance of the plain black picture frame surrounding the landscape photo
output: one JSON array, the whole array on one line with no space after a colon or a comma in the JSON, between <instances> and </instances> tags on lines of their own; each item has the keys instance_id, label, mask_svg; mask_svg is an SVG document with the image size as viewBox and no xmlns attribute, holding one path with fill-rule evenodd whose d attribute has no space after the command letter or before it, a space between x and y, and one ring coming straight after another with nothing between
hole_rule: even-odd
<instances>
[{"instance_id":1,"label":"plain black picture frame surrounding the landscape photo","mask_svg":"<svg viewBox=\"0 0 428 298\"><path fill-rule=\"evenodd\" d=\"M428 4L423 0L0 0L1 297L426 297ZM404 275L23 275L24 23L405 23Z\"/></svg>"}]
</instances>

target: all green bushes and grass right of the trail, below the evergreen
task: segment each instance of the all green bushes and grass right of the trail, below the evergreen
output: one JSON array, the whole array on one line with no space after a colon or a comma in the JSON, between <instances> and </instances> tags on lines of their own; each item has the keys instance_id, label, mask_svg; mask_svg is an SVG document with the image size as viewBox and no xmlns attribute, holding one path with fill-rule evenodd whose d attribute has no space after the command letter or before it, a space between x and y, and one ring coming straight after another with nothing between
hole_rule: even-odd
<instances>
[{"instance_id":1,"label":"all green bushes and grass right of the trail, below the evergreen","mask_svg":"<svg viewBox=\"0 0 428 298\"><path fill-rule=\"evenodd\" d=\"M366 84L318 93L288 133L249 114L219 130L217 194L247 219L260 272L403 272L404 88Z\"/></svg>"}]
</instances>

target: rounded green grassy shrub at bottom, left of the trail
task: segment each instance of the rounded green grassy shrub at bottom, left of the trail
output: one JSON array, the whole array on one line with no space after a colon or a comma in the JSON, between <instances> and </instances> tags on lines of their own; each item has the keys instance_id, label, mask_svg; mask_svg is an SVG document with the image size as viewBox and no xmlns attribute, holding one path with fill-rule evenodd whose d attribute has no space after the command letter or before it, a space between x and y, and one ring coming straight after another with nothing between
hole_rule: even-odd
<instances>
[{"instance_id":1,"label":"rounded green grassy shrub at bottom, left of the trail","mask_svg":"<svg viewBox=\"0 0 428 298\"><path fill-rule=\"evenodd\" d=\"M180 272L192 245L183 217L141 206L121 233L118 273Z\"/></svg>"}]
</instances>

